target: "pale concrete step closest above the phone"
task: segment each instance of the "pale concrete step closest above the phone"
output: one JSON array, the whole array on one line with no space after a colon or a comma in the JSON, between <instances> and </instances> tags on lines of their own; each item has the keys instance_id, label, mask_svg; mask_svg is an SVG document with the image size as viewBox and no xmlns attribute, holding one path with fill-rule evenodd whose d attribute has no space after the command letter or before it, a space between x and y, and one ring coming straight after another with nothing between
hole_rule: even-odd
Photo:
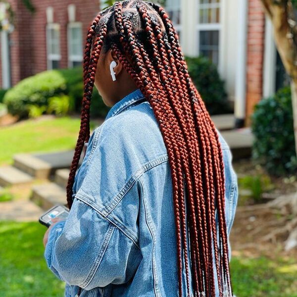
<instances>
[{"instance_id":1,"label":"pale concrete step closest above the phone","mask_svg":"<svg viewBox=\"0 0 297 297\"><path fill-rule=\"evenodd\" d=\"M31 200L47 210L55 204L66 204L66 191L55 183L34 186Z\"/></svg>"}]
</instances>

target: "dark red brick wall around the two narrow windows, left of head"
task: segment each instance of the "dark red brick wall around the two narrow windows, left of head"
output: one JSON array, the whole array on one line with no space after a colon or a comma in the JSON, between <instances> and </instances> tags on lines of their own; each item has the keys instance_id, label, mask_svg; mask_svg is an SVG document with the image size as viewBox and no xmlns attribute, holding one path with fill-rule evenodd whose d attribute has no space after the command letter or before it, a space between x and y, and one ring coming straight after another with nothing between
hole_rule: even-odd
<instances>
[{"instance_id":1,"label":"dark red brick wall around the two narrow windows, left of head","mask_svg":"<svg viewBox=\"0 0 297 297\"><path fill-rule=\"evenodd\" d=\"M31 13L22 0L8 0L8 2L15 12L15 30L10 34L12 85L25 77L47 70L46 9L48 6L53 7L53 21L60 24L61 68L68 66L68 5L76 5L76 21L83 24L83 44L85 34L99 12L99 0L31 0L36 9L35 13Z\"/></svg>"}]
</instances>

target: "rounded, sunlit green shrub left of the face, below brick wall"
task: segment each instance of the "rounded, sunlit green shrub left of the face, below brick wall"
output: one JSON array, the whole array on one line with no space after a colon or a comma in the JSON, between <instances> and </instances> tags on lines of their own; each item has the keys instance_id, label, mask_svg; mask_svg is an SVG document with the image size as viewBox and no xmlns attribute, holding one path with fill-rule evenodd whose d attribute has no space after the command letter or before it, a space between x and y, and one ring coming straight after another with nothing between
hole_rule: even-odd
<instances>
[{"instance_id":1,"label":"rounded, sunlit green shrub left of the face, below brick wall","mask_svg":"<svg viewBox=\"0 0 297 297\"><path fill-rule=\"evenodd\" d=\"M7 91L4 96L4 103L12 115L24 118L29 114L32 116L38 116L38 113L42 114L44 112L43 106L49 107L50 98L63 98L63 96L69 97L69 106L67 108L69 111L80 112L83 97L83 77L80 67L49 70L28 77ZM61 102L63 103L60 104L64 104L65 100L61 99ZM35 107L32 107L32 105ZM39 110L38 107L40 107ZM60 105L57 108L61 109L61 107ZM62 108L64 111L65 107L64 104ZM108 110L109 108L103 103L98 91L94 88L91 115L104 117ZM49 108L49 112L52 111L55 112Z\"/></svg>"}]
</instances>

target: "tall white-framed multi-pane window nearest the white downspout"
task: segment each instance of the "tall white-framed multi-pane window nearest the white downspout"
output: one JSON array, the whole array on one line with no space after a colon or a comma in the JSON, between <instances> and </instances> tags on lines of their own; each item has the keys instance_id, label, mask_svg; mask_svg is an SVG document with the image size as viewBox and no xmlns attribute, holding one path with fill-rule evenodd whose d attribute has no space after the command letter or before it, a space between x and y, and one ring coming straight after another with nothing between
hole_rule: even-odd
<instances>
[{"instance_id":1,"label":"tall white-framed multi-pane window nearest the white downspout","mask_svg":"<svg viewBox=\"0 0 297 297\"><path fill-rule=\"evenodd\" d=\"M198 4L198 52L219 64L221 31L221 0L199 0Z\"/></svg>"}]
</instances>

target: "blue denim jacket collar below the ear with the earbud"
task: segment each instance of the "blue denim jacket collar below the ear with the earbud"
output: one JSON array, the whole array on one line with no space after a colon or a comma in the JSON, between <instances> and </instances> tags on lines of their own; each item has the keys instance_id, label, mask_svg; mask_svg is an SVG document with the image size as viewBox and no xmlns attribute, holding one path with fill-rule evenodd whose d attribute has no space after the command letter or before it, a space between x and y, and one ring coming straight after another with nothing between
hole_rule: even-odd
<instances>
[{"instance_id":1,"label":"blue denim jacket collar below the ear with the earbud","mask_svg":"<svg viewBox=\"0 0 297 297\"><path fill-rule=\"evenodd\" d=\"M136 104L136 103L140 103L141 101L145 101L146 98L145 96L142 94L142 92L140 91L140 89L137 89L135 91L133 91L132 93L128 94L127 96L125 96L123 99L119 100L118 102L116 102L108 111L105 120L107 120L108 118L115 116L117 114L119 114L120 112L124 111L126 108L128 108L129 106Z\"/></svg>"}]
</instances>

